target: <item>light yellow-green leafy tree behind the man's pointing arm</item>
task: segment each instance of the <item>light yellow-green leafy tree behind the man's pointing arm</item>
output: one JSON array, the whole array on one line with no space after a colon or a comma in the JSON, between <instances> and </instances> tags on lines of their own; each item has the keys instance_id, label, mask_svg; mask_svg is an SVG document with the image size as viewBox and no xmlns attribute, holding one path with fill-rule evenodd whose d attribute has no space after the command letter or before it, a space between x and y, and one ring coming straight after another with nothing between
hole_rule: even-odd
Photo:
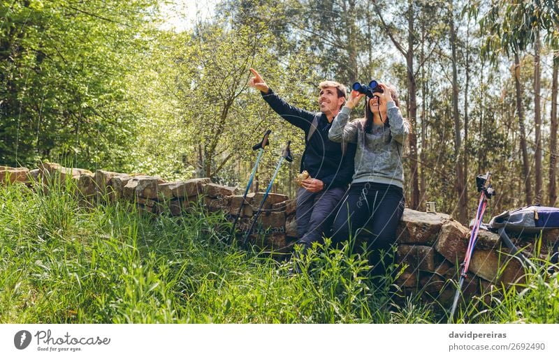
<instances>
[{"instance_id":1,"label":"light yellow-green leafy tree behind the man's pointing arm","mask_svg":"<svg viewBox=\"0 0 559 358\"><path fill-rule=\"evenodd\" d=\"M247 87L249 68L257 68L270 85L293 105L312 110L317 91L315 73L289 55L280 64L268 51L270 30L229 29L228 22L202 24L196 31L159 33L150 52L130 77L131 96L144 120L134 151L135 171L168 179L212 177L224 184L244 185L256 154L250 148L266 129L274 143L261 163L260 179L273 173L280 147L293 140L303 152L303 132L279 119L260 94ZM300 158L300 157L299 157ZM293 165L298 166L298 163ZM292 175L291 175L292 176ZM279 182L285 181L285 171Z\"/></svg>"}]
</instances>

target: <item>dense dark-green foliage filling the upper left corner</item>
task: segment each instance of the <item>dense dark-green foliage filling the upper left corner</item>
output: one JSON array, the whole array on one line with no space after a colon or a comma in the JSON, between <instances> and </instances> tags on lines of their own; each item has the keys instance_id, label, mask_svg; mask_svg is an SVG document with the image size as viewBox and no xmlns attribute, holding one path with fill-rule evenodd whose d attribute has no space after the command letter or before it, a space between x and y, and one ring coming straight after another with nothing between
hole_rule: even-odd
<instances>
[{"instance_id":1,"label":"dense dark-green foliage filling the upper left corner","mask_svg":"<svg viewBox=\"0 0 559 358\"><path fill-rule=\"evenodd\" d=\"M0 161L122 165L126 73L155 0L0 3Z\"/></svg>"}]
</instances>

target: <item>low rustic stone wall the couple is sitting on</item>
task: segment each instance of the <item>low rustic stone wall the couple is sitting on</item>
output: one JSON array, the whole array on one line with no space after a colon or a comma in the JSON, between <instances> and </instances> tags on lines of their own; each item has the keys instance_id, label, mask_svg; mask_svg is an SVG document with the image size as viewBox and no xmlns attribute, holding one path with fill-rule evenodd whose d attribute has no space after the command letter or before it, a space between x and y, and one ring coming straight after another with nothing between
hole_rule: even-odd
<instances>
[{"instance_id":1,"label":"low rustic stone wall the couple is sitting on","mask_svg":"<svg viewBox=\"0 0 559 358\"><path fill-rule=\"evenodd\" d=\"M45 182L46 177L72 180L84 202L129 200L152 214L188 215L188 209L201 202L208 211L224 211L231 221L242 204L236 188L214 184L209 178L167 182L160 177L124 174L104 170L71 169L56 163L44 163L35 170L24 167L0 167L0 182L28 184ZM238 222L238 232L246 232L264 193L247 195ZM256 230L249 236L253 244L275 253L289 253L297 239L295 200L270 193ZM404 290L414 290L451 300L456 288L457 264L462 262L470 230L447 214L427 214L405 209L398 226L398 262L407 268L398 279ZM465 294L478 294L493 284L514 283L523 274L521 263L507 255L497 234L482 231L465 280Z\"/></svg>"}]
</instances>

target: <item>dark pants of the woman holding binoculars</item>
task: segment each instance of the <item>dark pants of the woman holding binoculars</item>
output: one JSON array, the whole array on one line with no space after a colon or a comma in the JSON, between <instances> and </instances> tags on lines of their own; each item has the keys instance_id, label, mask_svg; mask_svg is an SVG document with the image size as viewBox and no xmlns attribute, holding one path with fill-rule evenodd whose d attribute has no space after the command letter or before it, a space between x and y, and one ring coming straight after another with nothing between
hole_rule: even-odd
<instances>
[{"instance_id":1,"label":"dark pants of the woman holding binoculars","mask_svg":"<svg viewBox=\"0 0 559 358\"><path fill-rule=\"evenodd\" d=\"M372 182L351 184L333 224L333 242L366 238L372 274L384 274L381 252L396 241L396 228L404 213L402 188Z\"/></svg>"}]
</instances>

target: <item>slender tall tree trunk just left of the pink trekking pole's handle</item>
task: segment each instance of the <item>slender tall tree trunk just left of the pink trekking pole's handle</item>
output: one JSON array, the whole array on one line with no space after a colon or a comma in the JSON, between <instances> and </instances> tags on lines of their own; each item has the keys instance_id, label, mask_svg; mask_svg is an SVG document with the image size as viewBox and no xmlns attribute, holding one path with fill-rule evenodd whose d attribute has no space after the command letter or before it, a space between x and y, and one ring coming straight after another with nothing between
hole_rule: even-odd
<instances>
[{"instance_id":1,"label":"slender tall tree trunk just left of the pink trekking pole's handle","mask_svg":"<svg viewBox=\"0 0 559 358\"><path fill-rule=\"evenodd\" d=\"M464 202L464 172L461 161L462 137L460 128L460 112L458 111L458 69L456 68L456 32L454 30L454 13L452 6L449 11L450 45L452 52L452 118L454 120L454 158L456 160L456 193L458 194L458 221L466 223L466 203Z\"/></svg>"}]
</instances>

